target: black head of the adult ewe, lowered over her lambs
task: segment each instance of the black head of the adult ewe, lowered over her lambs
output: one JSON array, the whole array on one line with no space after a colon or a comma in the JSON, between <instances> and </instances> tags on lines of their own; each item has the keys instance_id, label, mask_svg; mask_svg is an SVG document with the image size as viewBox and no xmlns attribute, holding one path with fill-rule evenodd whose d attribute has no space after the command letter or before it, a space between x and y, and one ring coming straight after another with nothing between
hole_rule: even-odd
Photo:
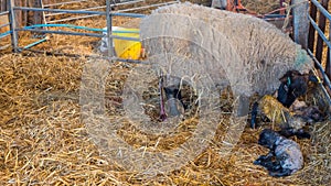
<instances>
[{"instance_id":1,"label":"black head of the adult ewe, lowered over her lambs","mask_svg":"<svg viewBox=\"0 0 331 186\"><path fill-rule=\"evenodd\" d=\"M290 107L295 100L307 92L309 81L318 83L312 74L300 74L298 70L288 70L280 79L278 101L285 107Z\"/></svg>"}]
</instances>

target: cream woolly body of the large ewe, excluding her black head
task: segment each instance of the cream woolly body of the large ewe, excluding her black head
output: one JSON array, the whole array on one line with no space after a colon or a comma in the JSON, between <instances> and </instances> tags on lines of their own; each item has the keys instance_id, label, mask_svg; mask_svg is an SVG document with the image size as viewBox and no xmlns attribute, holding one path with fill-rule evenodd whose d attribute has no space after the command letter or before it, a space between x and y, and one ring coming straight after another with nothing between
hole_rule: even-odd
<instances>
[{"instance_id":1,"label":"cream woolly body of the large ewe, excluding her black head","mask_svg":"<svg viewBox=\"0 0 331 186\"><path fill-rule=\"evenodd\" d=\"M238 117L249 114L249 97L278 89L279 75L313 68L307 52L275 25L191 3L154 10L141 20L140 39L147 63L167 75L193 79L196 95L231 87L239 98Z\"/></svg>"}]
</instances>

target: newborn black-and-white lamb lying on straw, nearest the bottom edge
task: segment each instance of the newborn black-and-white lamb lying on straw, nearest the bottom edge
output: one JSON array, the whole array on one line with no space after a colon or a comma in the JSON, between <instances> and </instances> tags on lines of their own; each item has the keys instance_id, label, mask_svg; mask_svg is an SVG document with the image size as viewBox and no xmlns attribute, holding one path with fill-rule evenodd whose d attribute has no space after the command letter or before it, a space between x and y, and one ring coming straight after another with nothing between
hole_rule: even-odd
<instances>
[{"instance_id":1,"label":"newborn black-and-white lamb lying on straw, nearest the bottom edge","mask_svg":"<svg viewBox=\"0 0 331 186\"><path fill-rule=\"evenodd\" d=\"M254 164L267 168L270 176L289 176L302 168L303 156L295 141L265 129L259 134L258 144L269 149L269 153L260 155Z\"/></svg>"}]
</instances>

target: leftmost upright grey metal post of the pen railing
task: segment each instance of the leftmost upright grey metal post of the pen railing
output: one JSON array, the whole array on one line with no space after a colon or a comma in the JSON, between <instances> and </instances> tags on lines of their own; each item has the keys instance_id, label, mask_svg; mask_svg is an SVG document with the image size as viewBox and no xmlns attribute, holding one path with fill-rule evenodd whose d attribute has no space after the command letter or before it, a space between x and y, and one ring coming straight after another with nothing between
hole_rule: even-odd
<instances>
[{"instance_id":1,"label":"leftmost upright grey metal post of the pen railing","mask_svg":"<svg viewBox=\"0 0 331 186\"><path fill-rule=\"evenodd\" d=\"M18 52L18 39L19 39L19 35L18 33L15 32L15 29L17 29L17 21L15 21L15 12L14 12L14 0L9 0L9 22L10 22L10 30L12 31L11 32L11 44L12 44L12 50L14 53Z\"/></svg>"}]
</instances>

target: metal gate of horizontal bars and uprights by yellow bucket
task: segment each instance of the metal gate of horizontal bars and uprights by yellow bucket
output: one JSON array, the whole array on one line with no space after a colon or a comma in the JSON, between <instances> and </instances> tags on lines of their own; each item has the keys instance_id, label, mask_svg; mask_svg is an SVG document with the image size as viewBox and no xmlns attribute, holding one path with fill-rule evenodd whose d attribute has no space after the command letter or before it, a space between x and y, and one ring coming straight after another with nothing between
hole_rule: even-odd
<instances>
[{"instance_id":1,"label":"metal gate of horizontal bars and uprights by yellow bucket","mask_svg":"<svg viewBox=\"0 0 331 186\"><path fill-rule=\"evenodd\" d=\"M87 9L79 9L79 10L64 10L64 9L54 9L58 6L63 4L75 4L75 3L81 3L81 2L88 2L87 0L72 0L72 1L66 1L66 2L61 2L61 3L50 3L50 4L44 4L45 0L35 0L35 3L33 8L30 7L18 7L15 6L14 0L8 0L7 1L7 7L8 11L0 12L0 15L8 15L9 18L9 23L0 25L1 28L10 25L10 31L0 33L0 39L7 37L11 35L11 46L13 52L21 52L23 50L30 48L39 43L42 43L46 41L46 39L42 39L38 42L31 43L26 46L19 47L18 43L18 32L21 31L30 31L30 32L36 32L36 33L51 33L51 34L66 34L66 35L83 35L83 36L94 36L94 37L103 37L105 36L103 32L105 30L103 29L94 29L94 28L85 28L85 26L74 26L74 29L82 29L82 30L88 30L97 33L83 33L83 32L68 32L68 31L54 31L54 30L47 30L49 26L58 26L61 22L66 22L66 21L73 21L73 20L81 20L85 18L92 18L92 17L106 17L107 20L107 35L108 36L108 43L110 45L108 46L108 55L113 56L113 53L110 48L113 48L113 39L118 39L118 40L129 40L129 41L139 41L136 37L125 37L125 36L118 36L118 35L113 35L111 33L111 25L113 25L113 18L114 17L129 17L129 18L143 18L145 14L140 13L128 13L130 11L138 11L138 10L143 10L143 9L149 9L149 8L156 8L164 4L171 4L171 3L177 3L179 1L166 1L161 3L152 3L148 6L142 6L142 7L137 7L137 8L129 8L129 9L120 9L122 6L129 6L129 4L135 4L139 2L145 2L143 0L131 0L131 1L118 1L115 2L114 0L106 0L105 6L99 6L99 7L92 7ZM47 1L49 2L49 1ZM114 11L113 9L118 8L118 10ZM35 20L34 22L39 24L34 24L31 26L19 26L17 24L18 19L17 17L17 11L33 11L38 12L35 13ZM56 15L63 15L63 14L74 14L70 18L65 19L60 19L60 20L51 20L50 18L56 17ZM78 15L81 14L81 15ZM83 14L83 15L82 15ZM73 26L73 25L71 25ZM118 61L124 61L118 58ZM128 59L125 59L128 62Z\"/></svg>"}]
</instances>

